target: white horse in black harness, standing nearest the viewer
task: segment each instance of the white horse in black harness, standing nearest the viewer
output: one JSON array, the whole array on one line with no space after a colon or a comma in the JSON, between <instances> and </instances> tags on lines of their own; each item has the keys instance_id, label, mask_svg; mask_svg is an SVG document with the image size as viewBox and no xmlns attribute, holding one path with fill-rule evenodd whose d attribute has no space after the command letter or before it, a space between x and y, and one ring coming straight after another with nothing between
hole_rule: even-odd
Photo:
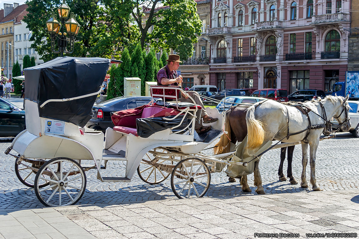
<instances>
[{"instance_id":1,"label":"white horse in black harness, standing nearest the viewer","mask_svg":"<svg viewBox=\"0 0 359 239\"><path fill-rule=\"evenodd\" d=\"M327 96L324 99L306 101L302 103L306 113L300 112L297 107L284 105L274 100L258 102L252 105L247 112L246 121L248 129L248 144L250 149L260 148L265 142L273 139L282 142L302 143L302 182L300 186L308 187L306 180L307 149L308 144L311 166L311 184L314 191L321 189L317 185L315 176L316 152L319 137L323 132L324 124L334 117L343 131L350 129L349 105L347 97ZM321 106L322 105L322 106ZM288 138L289 136L289 138ZM258 162L255 163L254 183L258 194L265 194L262 187L262 179L259 173Z\"/></svg>"}]
</instances>

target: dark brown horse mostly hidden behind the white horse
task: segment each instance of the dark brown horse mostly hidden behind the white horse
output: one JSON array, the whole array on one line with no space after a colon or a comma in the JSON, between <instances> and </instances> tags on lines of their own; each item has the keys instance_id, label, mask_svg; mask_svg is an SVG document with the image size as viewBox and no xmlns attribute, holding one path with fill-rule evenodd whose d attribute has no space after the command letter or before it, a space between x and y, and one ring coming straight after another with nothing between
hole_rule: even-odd
<instances>
[{"instance_id":1,"label":"dark brown horse mostly hidden behind the white horse","mask_svg":"<svg viewBox=\"0 0 359 239\"><path fill-rule=\"evenodd\" d=\"M214 154L227 153L230 151L230 143L236 144L237 142L242 142L247 135L247 123L246 123L246 114L247 109L252 104L241 104L238 106L233 106L226 113L225 119L225 128L224 130L228 134L224 134L220 137L219 142L215 145ZM231 125L233 127L231 127ZM278 169L278 175L280 181L286 181L286 177L283 175L283 163L285 159L285 152L287 147L281 148L280 153L280 164ZM294 145L288 147L288 168L287 168L287 177L290 179L290 183L297 184L292 174L292 159L293 159ZM256 161L257 164L259 161ZM257 168L257 167L255 167ZM256 173L256 172L255 172ZM251 192L250 187L247 183L247 175L244 175L241 178L242 190L245 192ZM229 177L230 182L235 182L234 178ZM259 182L254 182L255 186ZM260 182L261 183L261 182Z\"/></svg>"}]
</instances>

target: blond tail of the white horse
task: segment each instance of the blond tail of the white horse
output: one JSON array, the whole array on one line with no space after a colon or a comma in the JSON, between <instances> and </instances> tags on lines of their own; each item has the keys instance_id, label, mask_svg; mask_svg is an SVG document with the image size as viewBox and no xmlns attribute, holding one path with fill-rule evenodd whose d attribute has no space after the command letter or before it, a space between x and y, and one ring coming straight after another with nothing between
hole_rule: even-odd
<instances>
[{"instance_id":1,"label":"blond tail of the white horse","mask_svg":"<svg viewBox=\"0 0 359 239\"><path fill-rule=\"evenodd\" d=\"M264 129L261 121L257 120L254 116L255 107L248 108L246 115L248 142L247 148L255 149L262 145L264 141Z\"/></svg>"}]
</instances>

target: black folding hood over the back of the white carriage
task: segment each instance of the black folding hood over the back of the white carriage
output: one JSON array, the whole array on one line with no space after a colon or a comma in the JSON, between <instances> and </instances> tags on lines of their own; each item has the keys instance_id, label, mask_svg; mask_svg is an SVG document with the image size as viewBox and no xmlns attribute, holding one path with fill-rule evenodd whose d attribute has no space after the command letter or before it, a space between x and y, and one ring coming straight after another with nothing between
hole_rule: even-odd
<instances>
[{"instance_id":1,"label":"black folding hood over the back of the white carriage","mask_svg":"<svg viewBox=\"0 0 359 239\"><path fill-rule=\"evenodd\" d=\"M38 104L39 116L73 123L80 127L91 119L97 95L62 102L99 91L111 60L106 58L57 57L38 66L24 69L25 99Z\"/></svg>"}]
</instances>

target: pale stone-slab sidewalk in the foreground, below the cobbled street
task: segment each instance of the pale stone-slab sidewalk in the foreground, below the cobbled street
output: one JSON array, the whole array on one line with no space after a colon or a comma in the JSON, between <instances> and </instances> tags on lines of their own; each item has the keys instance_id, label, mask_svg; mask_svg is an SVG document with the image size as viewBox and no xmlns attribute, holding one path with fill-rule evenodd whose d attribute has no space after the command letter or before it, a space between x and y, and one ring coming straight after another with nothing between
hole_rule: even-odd
<instances>
[{"instance_id":1,"label":"pale stone-slab sidewalk in the foreground, below the cobbled street","mask_svg":"<svg viewBox=\"0 0 359 239\"><path fill-rule=\"evenodd\" d=\"M359 234L358 189L0 211L0 239L311 238L308 233L343 232Z\"/></svg>"}]
</instances>

